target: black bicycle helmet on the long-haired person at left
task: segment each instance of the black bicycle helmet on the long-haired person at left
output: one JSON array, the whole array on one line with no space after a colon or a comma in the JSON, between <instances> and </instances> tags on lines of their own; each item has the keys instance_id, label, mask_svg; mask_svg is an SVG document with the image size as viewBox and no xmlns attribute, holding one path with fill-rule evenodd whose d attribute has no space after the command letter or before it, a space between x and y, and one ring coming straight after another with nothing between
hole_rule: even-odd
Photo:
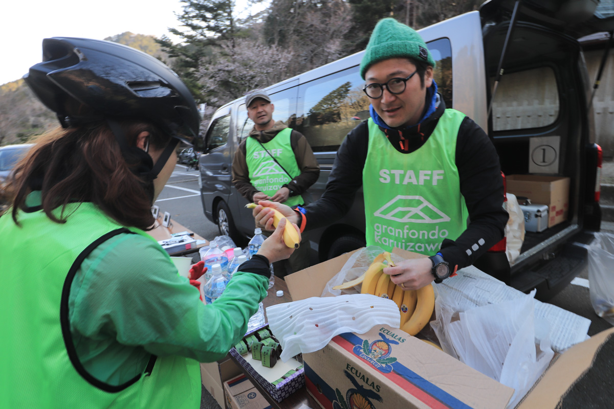
<instances>
[{"instance_id":1,"label":"black bicycle helmet on the long-haired person at left","mask_svg":"<svg viewBox=\"0 0 614 409\"><path fill-rule=\"evenodd\" d=\"M141 158L126 148L117 120L150 121L169 135L169 142L171 138L188 145L200 142L200 114L192 94L153 56L110 41L71 37L44 39L42 50L42 63L30 67L23 79L64 128L107 120L122 151ZM155 178L160 169L141 173Z\"/></svg>"}]
</instances>

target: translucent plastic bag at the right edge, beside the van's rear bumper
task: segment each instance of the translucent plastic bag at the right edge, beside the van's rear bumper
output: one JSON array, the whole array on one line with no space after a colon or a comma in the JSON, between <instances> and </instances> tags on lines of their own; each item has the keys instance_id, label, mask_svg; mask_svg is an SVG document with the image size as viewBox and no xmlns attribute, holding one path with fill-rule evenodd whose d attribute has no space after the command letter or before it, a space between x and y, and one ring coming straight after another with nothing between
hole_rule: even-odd
<instances>
[{"instance_id":1,"label":"translucent plastic bag at the right edge, beside the van's rear bumper","mask_svg":"<svg viewBox=\"0 0 614 409\"><path fill-rule=\"evenodd\" d=\"M588 250L588 282L595 313L614 325L614 234L598 232Z\"/></svg>"}]
</instances>

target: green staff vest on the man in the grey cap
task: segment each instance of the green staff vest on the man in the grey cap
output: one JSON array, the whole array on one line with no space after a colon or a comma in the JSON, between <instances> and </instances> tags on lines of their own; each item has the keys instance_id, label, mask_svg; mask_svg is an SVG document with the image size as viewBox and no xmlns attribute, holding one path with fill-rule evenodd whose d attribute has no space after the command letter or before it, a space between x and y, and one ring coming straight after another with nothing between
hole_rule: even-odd
<instances>
[{"instance_id":1,"label":"green staff vest on the man in the grey cap","mask_svg":"<svg viewBox=\"0 0 614 409\"><path fill-rule=\"evenodd\" d=\"M256 189L268 196L273 196L281 189L281 186L287 185L292 178L301 173L290 144L291 133L290 128L282 129L273 139L262 145L254 137L247 137L245 156L247 169L249 169L249 180ZM270 155L266 153L267 150ZM279 164L275 163L271 155L292 175L292 178L279 167ZM288 197L284 204L292 207L303 204L303 202L303 197L299 195Z\"/></svg>"}]
</instances>

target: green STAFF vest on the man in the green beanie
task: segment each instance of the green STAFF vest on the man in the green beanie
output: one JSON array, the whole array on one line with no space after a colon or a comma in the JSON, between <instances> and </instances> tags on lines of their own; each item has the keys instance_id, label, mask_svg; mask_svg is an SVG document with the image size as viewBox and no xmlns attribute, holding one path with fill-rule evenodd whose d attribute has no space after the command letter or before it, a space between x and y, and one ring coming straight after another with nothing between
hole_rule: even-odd
<instances>
[{"instance_id":1,"label":"green STAFF vest on the man in the green beanie","mask_svg":"<svg viewBox=\"0 0 614 409\"><path fill-rule=\"evenodd\" d=\"M386 251L437 253L443 239L467 228L468 211L456 168L456 137L464 113L446 109L426 143L400 153L371 118L362 172L367 245Z\"/></svg>"}]
</instances>

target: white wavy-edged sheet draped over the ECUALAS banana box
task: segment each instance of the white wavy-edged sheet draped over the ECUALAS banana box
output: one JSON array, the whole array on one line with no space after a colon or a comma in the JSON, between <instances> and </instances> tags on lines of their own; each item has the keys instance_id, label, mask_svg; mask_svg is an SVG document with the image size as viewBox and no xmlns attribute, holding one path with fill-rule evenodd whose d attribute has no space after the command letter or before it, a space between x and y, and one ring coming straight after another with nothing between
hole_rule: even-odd
<instances>
[{"instance_id":1,"label":"white wavy-edged sheet draped over the ECUALAS banana box","mask_svg":"<svg viewBox=\"0 0 614 409\"><path fill-rule=\"evenodd\" d=\"M383 324L398 328L401 321L394 301L372 294L311 297L272 305L266 308L266 317L284 362L299 353L321 350L335 335L364 334Z\"/></svg>"}]
</instances>

